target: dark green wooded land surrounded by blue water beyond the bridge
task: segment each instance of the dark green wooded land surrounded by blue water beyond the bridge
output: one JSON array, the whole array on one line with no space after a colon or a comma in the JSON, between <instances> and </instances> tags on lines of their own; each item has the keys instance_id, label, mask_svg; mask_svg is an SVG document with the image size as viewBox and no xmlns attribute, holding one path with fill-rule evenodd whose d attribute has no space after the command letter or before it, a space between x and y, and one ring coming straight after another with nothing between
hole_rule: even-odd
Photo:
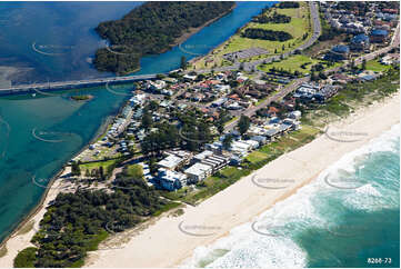
<instances>
[{"instance_id":1,"label":"dark green wooded land surrounded by blue water beyond the bridge","mask_svg":"<svg viewBox=\"0 0 401 269\"><path fill-rule=\"evenodd\" d=\"M142 56L169 50L193 29L225 14L233 6L231 1L143 3L122 19L96 28L110 46L96 52L94 67L119 74L138 70Z\"/></svg>"}]
</instances>

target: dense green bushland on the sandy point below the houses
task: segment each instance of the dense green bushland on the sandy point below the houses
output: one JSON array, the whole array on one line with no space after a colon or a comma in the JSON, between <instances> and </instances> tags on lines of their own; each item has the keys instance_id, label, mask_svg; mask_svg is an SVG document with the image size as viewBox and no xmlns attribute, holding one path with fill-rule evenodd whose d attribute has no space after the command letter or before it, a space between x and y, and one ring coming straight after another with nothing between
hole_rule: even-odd
<instances>
[{"instance_id":1,"label":"dense green bushland on the sandy point below the houses","mask_svg":"<svg viewBox=\"0 0 401 269\"><path fill-rule=\"evenodd\" d=\"M117 175L111 192L59 193L32 238L36 247L19 252L16 267L80 267L88 251L109 235L134 227L174 205L147 186L136 168Z\"/></svg>"}]
</instances>

